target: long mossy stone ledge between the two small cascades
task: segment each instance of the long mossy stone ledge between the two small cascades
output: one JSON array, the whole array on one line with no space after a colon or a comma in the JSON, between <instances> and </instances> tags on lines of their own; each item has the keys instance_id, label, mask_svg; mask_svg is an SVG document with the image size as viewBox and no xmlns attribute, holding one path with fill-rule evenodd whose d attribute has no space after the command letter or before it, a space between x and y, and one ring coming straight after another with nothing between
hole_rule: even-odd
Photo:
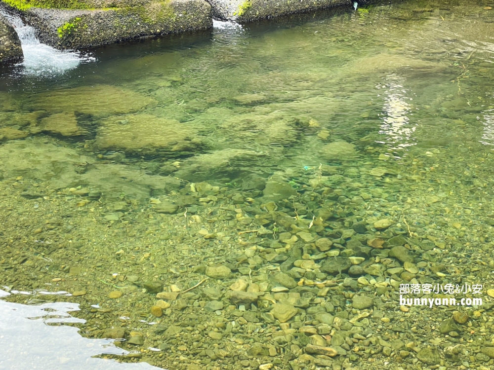
<instances>
[{"instance_id":1,"label":"long mossy stone ledge between the two small cascades","mask_svg":"<svg viewBox=\"0 0 494 370\"><path fill-rule=\"evenodd\" d=\"M0 0L23 14L41 42L59 49L212 27L204 0Z\"/></svg>"}]
</instances>

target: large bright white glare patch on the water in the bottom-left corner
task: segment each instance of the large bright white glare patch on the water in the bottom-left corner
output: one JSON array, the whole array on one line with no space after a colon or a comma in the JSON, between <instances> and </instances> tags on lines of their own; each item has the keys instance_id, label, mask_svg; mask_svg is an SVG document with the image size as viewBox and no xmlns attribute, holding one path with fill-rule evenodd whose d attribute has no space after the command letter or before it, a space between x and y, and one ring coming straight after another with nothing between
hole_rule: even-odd
<instances>
[{"instance_id":1,"label":"large bright white glare patch on the water in the bottom-left corner","mask_svg":"<svg viewBox=\"0 0 494 370\"><path fill-rule=\"evenodd\" d=\"M0 297L8 295L0 290ZM69 314L79 310L75 303L25 305L0 299L0 369L158 369L144 362L128 364L94 358L129 352L116 347L112 340L83 338L78 328L64 326L85 322Z\"/></svg>"}]
</instances>

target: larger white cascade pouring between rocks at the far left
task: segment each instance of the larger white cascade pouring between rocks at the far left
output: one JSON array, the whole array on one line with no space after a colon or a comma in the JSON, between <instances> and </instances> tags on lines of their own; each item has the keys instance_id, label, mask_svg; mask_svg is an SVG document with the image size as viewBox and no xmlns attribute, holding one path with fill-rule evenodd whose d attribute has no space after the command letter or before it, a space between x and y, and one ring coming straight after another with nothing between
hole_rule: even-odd
<instances>
[{"instance_id":1,"label":"larger white cascade pouring between rocks at the far left","mask_svg":"<svg viewBox=\"0 0 494 370\"><path fill-rule=\"evenodd\" d=\"M56 75L76 68L82 62L95 60L90 56L82 56L78 51L57 50L43 44L36 37L35 29L26 25L19 15L2 8L0 14L7 19L19 36L24 54L24 61L19 65L24 67L24 74Z\"/></svg>"}]
</instances>

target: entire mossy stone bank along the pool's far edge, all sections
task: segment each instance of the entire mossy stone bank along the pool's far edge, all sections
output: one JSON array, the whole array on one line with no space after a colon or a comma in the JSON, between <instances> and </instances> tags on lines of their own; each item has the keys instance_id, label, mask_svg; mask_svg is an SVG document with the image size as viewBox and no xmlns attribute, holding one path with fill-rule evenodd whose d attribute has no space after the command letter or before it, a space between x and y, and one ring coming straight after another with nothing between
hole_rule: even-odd
<instances>
[{"instance_id":1,"label":"entire mossy stone bank along the pool's far edge, all sections","mask_svg":"<svg viewBox=\"0 0 494 370\"><path fill-rule=\"evenodd\" d=\"M248 23L343 5L350 8L350 3L343 0L0 1L4 10L21 15L32 25L42 43L57 49L87 48L206 30L212 27L213 17ZM12 27L3 17L0 24L0 61L22 59L20 43Z\"/></svg>"}]
</instances>

